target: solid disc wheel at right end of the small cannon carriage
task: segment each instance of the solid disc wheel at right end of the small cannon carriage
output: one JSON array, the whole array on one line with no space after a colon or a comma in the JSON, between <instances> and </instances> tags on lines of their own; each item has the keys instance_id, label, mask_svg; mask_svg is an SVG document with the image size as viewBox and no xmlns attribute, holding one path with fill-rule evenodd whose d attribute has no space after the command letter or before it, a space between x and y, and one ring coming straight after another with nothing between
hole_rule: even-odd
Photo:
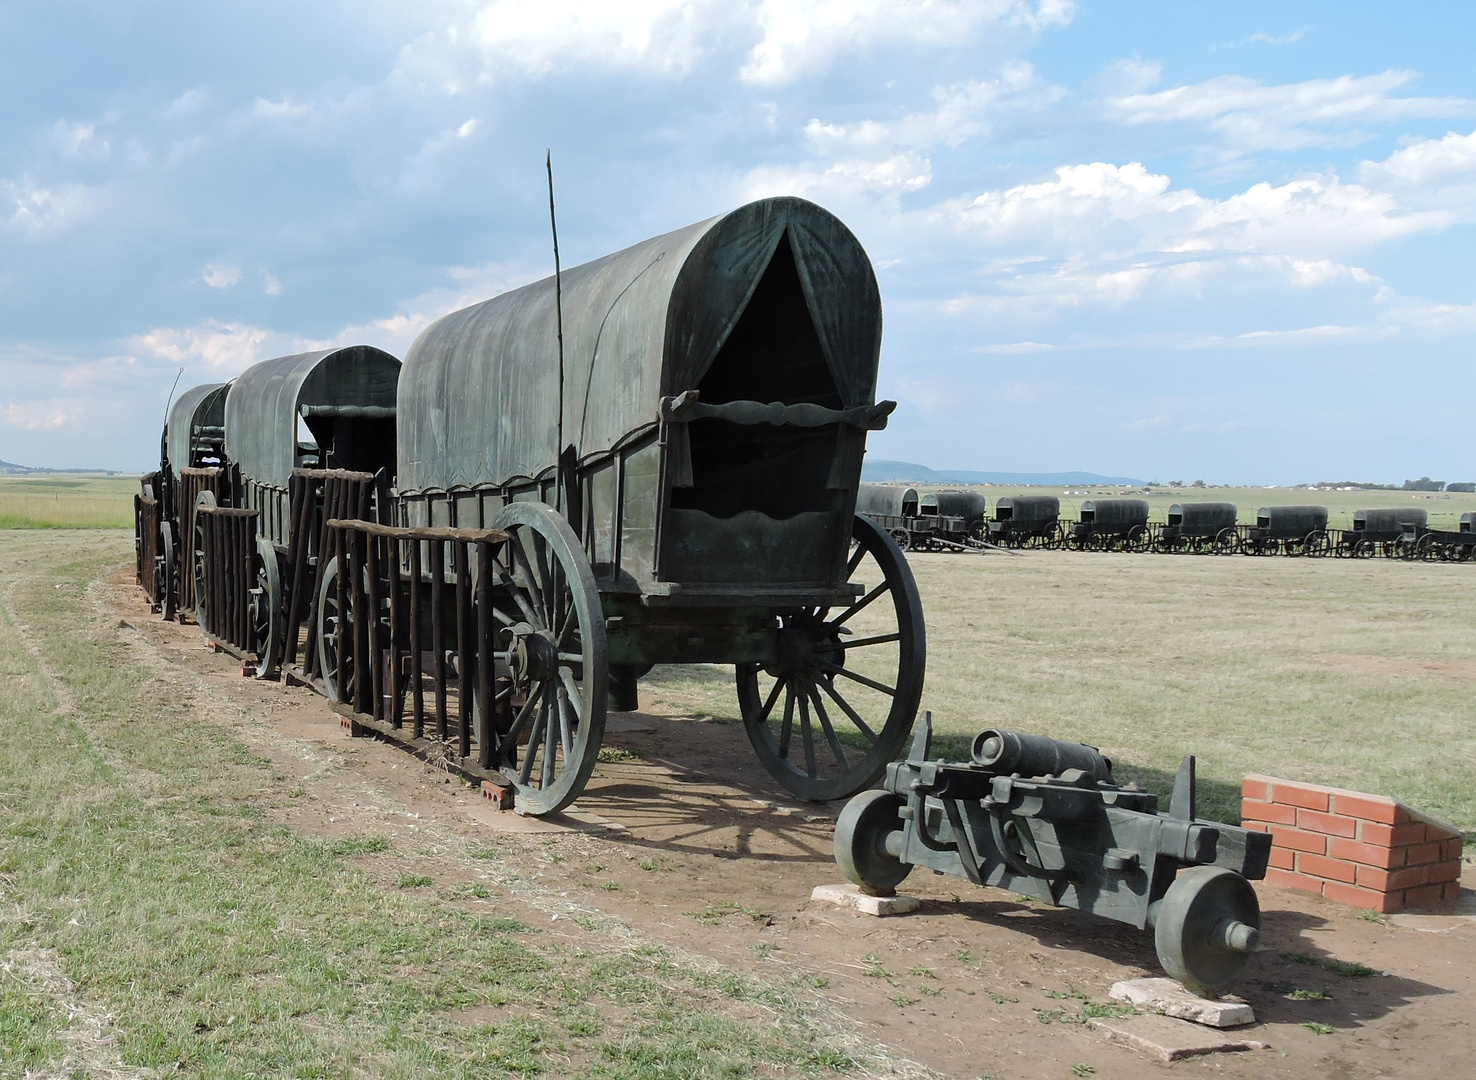
<instances>
[{"instance_id":1,"label":"solid disc wheel at right end of the small cannon carriage","mask_svg":"<svg viewBox=\"0 0 1476 1080\"><path fill-rule=\"evenodd\" d=\"M1182 870L1154 909L1159 963L1206 997L1218 997L1240 977L1261 940L1256 891L1221 866Z\"/></svg>"}]
</instances>

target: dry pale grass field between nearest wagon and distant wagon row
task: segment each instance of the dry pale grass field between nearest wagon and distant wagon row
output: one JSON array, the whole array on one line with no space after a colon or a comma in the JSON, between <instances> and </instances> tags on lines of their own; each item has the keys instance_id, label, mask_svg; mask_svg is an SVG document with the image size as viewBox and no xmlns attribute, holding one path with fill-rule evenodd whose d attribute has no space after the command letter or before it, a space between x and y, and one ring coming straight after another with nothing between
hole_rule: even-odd
<instances>
[{"instance_id":1,"label":"dry pale grass field between nearest wagon and distant wagon row","mask_svg":"<svg viewBox=\"0 0 1476 1080\"><path fill-rule=\"evenodd\" d=\"M1101 747L1165 792L1199 757L1201 811L1238 820L1263 772L1476 823L1476 567L1077 552L914 555L924 708ZM649 701L737 717L732 673L657 668Z\"/></svg>"}]
</instances>

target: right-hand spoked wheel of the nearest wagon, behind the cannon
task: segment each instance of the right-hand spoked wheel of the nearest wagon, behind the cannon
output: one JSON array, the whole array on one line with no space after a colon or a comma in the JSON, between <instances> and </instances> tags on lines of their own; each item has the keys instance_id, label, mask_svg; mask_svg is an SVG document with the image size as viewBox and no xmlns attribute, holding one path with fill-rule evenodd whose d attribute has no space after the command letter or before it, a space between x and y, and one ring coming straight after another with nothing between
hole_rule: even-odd
<instances>
[{"instance_id":1,"label":"right-hand spoked wheel of the nearest wagon, behind the cannon","mask_svg":"<svg viewBox=\"0 0 1476 1080\"><path fill-rule=\"evenodd\" d=\"M852 524L846 578L875 584L838 614L779 615L775 661L738 664L748 741L763 767L810 803L869 788L906 742L922 698L922 599L902 552L869 518ZM884 596L892 602L874 603Z\"/></svg>"}]
</instances>

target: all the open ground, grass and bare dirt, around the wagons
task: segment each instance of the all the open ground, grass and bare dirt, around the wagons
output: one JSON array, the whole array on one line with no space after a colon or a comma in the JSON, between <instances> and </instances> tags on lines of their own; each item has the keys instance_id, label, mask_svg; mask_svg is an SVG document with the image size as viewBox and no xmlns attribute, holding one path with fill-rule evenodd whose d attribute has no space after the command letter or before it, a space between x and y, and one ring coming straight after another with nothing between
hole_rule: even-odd
<instances>
[{"instance_id":1,"label":"all the open ground, grass and bare dirt, around the wagons","mask_svg":"<svg viewBox=\"0 0 1476 1080\"><path fill-rule=\"evenodd\" d=\"M0 534L0 1076L1457 1076L1476 927L1259 888L1269 1049L1160 1065L1085 1021L1137 931L918 875L812 904L838 806L781 797L731 673L658 668L556 820L497 813L148 612L118 531ZM1476 822L1476 567L917 556L945 748L1200 757ZM1467 885L1476 885L1470 868Z\"/></svg>"}]
</instances>

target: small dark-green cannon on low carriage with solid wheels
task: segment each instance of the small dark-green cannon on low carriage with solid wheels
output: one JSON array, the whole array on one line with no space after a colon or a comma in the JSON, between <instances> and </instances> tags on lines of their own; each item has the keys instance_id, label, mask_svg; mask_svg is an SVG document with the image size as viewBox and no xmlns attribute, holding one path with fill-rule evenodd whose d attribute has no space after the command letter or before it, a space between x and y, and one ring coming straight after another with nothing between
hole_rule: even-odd
<instances>
[{"instance_id":1,"label":"small dark-green cannon on low carriage with solid wheels","mask_svg":"<svg viewBox=\"0 0 1476 1080\"><path fill-rule=\"evenodd\" d=\"M1113 780L1094 747L983 730L970 760L931 760L924 713L908 757L835 823L835 862L865 893L893 896L914 866L1153 930L1159 962L1218 996L1261 937L1250 881L1271 835L1196 816L1194 758L1159 797Z\"/></svg>"}]
</instances>

